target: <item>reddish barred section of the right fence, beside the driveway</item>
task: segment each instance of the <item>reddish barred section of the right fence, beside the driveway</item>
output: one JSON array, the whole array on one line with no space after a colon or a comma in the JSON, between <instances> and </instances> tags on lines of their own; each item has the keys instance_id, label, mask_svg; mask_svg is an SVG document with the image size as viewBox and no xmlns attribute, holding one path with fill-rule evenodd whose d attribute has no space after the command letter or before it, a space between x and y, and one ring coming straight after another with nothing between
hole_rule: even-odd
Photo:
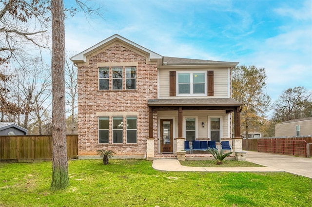
<instances>
[{"instance_id":1,"label":"reddish barred section of the right fence, beside the driveway","mask_svg":"<svg viewBox=\"0 0 312 207\"><path fill-rule=\"evenodd\" d=\"M276 154L307 156L305 140L258 139L258 151Z\"/></svg>"}]
</instances>

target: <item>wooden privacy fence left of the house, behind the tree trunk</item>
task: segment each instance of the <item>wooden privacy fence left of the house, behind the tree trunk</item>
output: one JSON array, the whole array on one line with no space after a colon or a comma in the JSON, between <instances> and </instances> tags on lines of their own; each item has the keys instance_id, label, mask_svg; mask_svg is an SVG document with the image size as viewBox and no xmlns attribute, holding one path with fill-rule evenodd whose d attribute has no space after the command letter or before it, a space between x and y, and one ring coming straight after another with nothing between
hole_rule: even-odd
<instances>
[{"instance_id":1,"label":"wooden privacy fence left of the house, behind the tree trunk","mask_svg":"<svg viewBox=\"0 0 312 207\"><path fill-rule=\"evenodd\" d=\"M78 155L78 135L67 135L67 156ZM51 135L0 136L0 161L36 162L52 160Z\"/></svg>"}]
</instances>

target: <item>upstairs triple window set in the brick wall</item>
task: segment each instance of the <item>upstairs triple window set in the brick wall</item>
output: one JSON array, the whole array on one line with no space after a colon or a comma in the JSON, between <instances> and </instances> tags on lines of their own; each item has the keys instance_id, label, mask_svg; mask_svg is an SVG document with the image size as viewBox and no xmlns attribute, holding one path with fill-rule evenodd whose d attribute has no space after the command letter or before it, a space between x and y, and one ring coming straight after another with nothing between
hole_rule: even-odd
<instances>
[{"instance_id":1,"label":"upstairs triple window set in the brick wall","mask_svg":"<svg viewBox=\"0 0 312 207\"><path fill-rule=\"evenodd\" d=\"M111 74L111 75L110 75ZM137 88L136 67L99 67L99 90L133 90Z\"/></svg>"}]
</instances>

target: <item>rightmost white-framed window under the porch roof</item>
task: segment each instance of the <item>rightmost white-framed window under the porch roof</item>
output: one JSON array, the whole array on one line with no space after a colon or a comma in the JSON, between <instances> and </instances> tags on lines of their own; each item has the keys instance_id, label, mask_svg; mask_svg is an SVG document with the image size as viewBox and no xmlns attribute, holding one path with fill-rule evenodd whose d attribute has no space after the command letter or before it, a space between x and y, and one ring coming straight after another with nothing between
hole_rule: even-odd
<instances>
[{"instance_id":1,"label":"rightmost white-framed window under the porch roof","mask_svg":"<svg viewBox=\"0 0 312 207\"><path fill-rule=\"evenodd\" d=\"M222 135L222 116L208 116L208 134L212 141L220 142Z\"/></svg>"}]
</instances>

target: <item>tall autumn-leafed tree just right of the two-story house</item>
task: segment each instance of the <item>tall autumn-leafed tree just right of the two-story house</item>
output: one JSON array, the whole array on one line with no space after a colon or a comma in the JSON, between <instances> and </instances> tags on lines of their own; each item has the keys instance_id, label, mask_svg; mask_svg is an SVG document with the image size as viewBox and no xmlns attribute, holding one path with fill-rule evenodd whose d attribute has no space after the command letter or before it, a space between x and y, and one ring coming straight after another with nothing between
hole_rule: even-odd
<instances>
[{"instance_id":1,"label":"tall autumn-leafed tree just right of the two-story house","mask_svg":"<svg viewBox=\"0 0 312 207\"><path fill-rule=\"evenodd\" d=\"M242 132L248 146L248 132L254 131L269 110L271 99L265 93L267 75L264 68L237 66L232 74L232 97L244 105L241 111ZM247 147L248 148L248 147ZM246 149L248 150L248 149Z\"/></svg>"}]
</instances>

